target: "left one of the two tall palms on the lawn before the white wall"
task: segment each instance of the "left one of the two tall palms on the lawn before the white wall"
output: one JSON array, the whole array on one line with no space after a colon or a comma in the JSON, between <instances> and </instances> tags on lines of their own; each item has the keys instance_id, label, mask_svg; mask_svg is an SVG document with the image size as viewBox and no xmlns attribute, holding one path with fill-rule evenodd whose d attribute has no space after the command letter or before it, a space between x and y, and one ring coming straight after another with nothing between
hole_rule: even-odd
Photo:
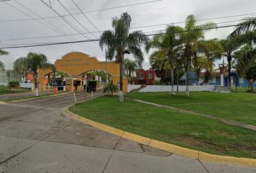
<instances>
[{"instance_id":1,"label":"left one of the two tall palms on the lawn before the white wall","mask_svg":"<svg viewBox=\"0 0 256 173\"><path fill-rule=\"evenodd\" d=\"M182 27L168 26L166 35L155 35L153 40L146 46L148 52L150 48L156 48L163 56L168 58L171 70L171 94L174 95L174 62L176 61L177 54L182 48L182 42L179 39L179 32Z\"/></svg>"}]
</instances>

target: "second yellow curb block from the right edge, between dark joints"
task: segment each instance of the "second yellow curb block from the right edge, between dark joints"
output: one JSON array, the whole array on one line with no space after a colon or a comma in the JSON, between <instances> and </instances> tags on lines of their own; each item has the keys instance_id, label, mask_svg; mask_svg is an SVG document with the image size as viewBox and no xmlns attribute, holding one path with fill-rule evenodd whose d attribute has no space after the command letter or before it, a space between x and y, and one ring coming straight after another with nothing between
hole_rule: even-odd
<instances>
[{"instance_id":1,"label":"second yellow curb block from the right edge, between dark joints","mask_svg":"<svg viewBox=\"0 0 256 173\"><path fill-rule=\"evenodd\" d=\"M198 159L198 151L184 148L182 146L176 146L171 143L165 143L151 139L149 146L161 149L163 151L168 151L173 154L178 154L180 156L185 156L191 159Z\"/></svg>"}]
</instances>

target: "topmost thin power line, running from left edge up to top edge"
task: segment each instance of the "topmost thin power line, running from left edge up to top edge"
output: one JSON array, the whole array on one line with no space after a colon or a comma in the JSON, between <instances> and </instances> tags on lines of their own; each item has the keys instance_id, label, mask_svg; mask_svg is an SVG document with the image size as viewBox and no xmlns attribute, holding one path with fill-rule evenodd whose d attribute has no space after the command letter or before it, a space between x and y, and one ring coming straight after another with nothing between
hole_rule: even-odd
<instances>
[{"instance_id":1,"label":"topmost thin power line, running from left edge up to top edge","mask_svg":"<svg viewBox=\"0 0 256 173\"><path fill-rule=\"evenodd\" d=\"M11 0L9 0L11 1ZM137 5L142 5L142 4L150 4L153 2L157 1L163 1L163 0L154 0L154 1L145 1L145 2L140 2L140 3L135 3L135 4L127 4L127 5L122 5L122 6L113 6L109 8L104 8L104 9L95 9L87 12L80 12L80 13L72 13L72 15L78 15L78 14L86 14L86 13L92 13L92 12L101 12L101 11L106 11L109 9L119 9L119 8L124 8L127 6L137 6ZM62 17L69 17L70 14L63 15ZM54 16L54 17L43 17L43 19L53 19L53 18L59 18L59 16ZM39 18L38 18L39 19ZM32 20L32 19L12 19L12 20L0 20L0 22L18 22L18 21L26 21L26 20Z\"/></svg>"}]
</instances>

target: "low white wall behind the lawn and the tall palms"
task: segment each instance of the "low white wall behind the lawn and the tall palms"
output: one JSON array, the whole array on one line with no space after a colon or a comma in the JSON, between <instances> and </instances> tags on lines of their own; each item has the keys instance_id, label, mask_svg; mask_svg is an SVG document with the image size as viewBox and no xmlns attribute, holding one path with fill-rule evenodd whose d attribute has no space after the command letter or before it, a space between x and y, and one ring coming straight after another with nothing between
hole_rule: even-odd
<instances>
[{"instance_id":1,"label":"low white wall behind the lawn and the tall palms","mask_svg":"<svg viewBox=\"0 0 256 173\"><path fill-rule=\"evenodd\" d=\"M131 92L133 89L139 89L141 85L128 85L127 92ZM189 92L210 92L214 90L213 85L191 85L189 86ZM174 91L176 92L176 86L174 85ZM179 86L179 92L185 92L186 86ZM170 85L147 85L145 88L140 89L139 92L171 92Z\"/></svg>"}]
</instances>

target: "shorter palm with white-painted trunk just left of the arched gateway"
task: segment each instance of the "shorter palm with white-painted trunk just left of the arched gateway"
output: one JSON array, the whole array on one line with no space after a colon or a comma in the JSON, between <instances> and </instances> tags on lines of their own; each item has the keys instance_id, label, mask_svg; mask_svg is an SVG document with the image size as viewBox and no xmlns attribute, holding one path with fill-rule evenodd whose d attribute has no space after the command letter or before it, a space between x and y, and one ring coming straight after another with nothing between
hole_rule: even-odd
<instances>
[{"instance_id":1,"label":"shorter palm with white-painted trunk just left of the arched gateway","mask_svg":"<svg viewBox=\"0 0 256 173\"><path fill-rule=\"evenodd\" d=\"M39 68L52 68L53 64L48 63L48 59L42 53L27 53L25 57L27 63L27 70L33 74L35 81L35 96L38 96L38 70Z\"/></svg>"}]
</instances>

